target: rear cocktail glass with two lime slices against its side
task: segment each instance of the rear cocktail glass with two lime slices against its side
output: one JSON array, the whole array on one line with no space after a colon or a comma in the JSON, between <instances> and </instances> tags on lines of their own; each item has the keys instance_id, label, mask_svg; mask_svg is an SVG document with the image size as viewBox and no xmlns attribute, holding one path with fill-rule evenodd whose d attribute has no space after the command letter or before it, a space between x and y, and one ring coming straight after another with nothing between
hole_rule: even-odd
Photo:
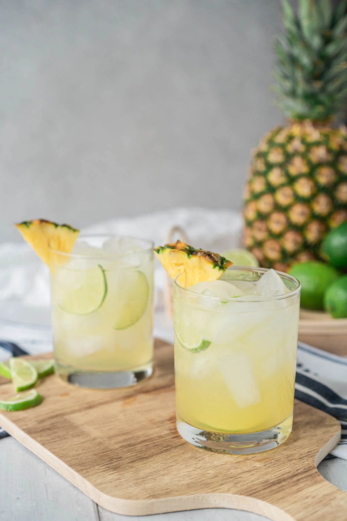
<instances>
[{"instance_id":1,"label":"rear cocktail glass with two lime slices against its side","mask_svg":"<svg viewBox=\"0 0 347 521\"><path fill-rule=\"evenodd\" d=\"M91 388L134 385L152 374L153 244L80 235L51 250L57 374Z\"/></svg>"}]
</instances>

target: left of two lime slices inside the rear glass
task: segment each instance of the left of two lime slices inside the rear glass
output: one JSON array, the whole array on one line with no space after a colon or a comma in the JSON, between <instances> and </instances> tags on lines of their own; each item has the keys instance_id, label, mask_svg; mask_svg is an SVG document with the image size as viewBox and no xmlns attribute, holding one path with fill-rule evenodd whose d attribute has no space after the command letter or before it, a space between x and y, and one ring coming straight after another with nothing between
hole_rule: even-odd
<instances>
[{"instance_id":1,"label":"left of two lime slices inside the rear glass","mask_svg":"<svg viewBox=\"0 0 347 521\"><path fill-rule=\"evenodd\" d=\"M99 309L107 295L107 280L104 268L71 270L59 283L58 305L73 315L89 315Z\"/></svg>"}]
</instances>

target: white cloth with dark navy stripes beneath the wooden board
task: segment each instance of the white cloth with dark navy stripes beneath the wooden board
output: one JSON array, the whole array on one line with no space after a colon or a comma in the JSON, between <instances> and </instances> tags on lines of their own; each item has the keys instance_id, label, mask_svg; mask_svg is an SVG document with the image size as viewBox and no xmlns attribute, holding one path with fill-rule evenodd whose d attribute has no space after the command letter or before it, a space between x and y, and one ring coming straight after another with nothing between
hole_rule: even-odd
<instances>
[{"instance_id":1,"label":"white cloth with dark navy stripes beneath the wooden board","mask_svg":"<svg viewBox=\"0 0 347 521\"><path fill-rule=\"evenodd\" d=\"M2 324L0 332L4 332L4 326ZM11 329L10 325L8 327ZM15 330L7 331L7 338L9 332L15 333ZM49 329L37 331L23 326L21 330L16 327L16 333L14 337L17 337L17 344L0 341L0 361L8 356L52 351ZM158 333L159 330L157 336L172 342L169 330ZM347 460L347 358L298 342L295 398L335 416L340 421L341 442L327 458L341 457ZM0 439L6 436L9 436L7 432L0 428Z\"/></svg>"}]
</instances>

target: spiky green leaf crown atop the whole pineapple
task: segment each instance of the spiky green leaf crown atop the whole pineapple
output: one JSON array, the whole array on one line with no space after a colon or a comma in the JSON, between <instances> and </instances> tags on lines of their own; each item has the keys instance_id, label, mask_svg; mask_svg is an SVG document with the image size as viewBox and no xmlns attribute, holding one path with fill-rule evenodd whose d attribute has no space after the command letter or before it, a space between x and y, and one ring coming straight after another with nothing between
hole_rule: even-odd
<instances>
[{"instance_id":1,"label":"spiky green leaf crown atop the whole pineapple","mask_svg":"<svg viewBox=\"0 0 347 521\"><path fill-rule=\"evenodd\" d=\"M299 0L298 13L281 0L285 32L277 39L275 90L291 119L324 121L347 98L347 2Z\"/></svg>"}]
</instances>

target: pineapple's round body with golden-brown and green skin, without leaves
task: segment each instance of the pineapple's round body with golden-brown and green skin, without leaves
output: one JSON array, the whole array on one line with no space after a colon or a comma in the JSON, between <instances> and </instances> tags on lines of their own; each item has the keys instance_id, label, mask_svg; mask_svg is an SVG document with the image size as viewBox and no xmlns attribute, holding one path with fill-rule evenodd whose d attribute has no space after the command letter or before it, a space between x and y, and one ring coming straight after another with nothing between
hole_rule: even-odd
<instances>
[{"instance_id":1,"label":"pineapple's round body with golden-brown and green skin, without leaves","mask_svg":"<svg viewBox=\"0 0 347 521\"><path fill-rule=\"evenodd\" d=\"M320 245L347 220L347 129L310 120L267 133L245 187L243 244L261 266L288 271L322 259Z\"/></svg>"}]
</instances>

